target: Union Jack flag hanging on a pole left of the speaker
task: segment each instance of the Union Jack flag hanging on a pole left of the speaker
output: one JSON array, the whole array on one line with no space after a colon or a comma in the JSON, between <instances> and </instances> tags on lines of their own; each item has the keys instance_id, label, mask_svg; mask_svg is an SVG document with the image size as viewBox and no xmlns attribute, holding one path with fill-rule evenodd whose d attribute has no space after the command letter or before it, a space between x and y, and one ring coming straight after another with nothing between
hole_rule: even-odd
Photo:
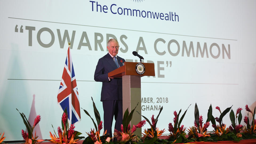
<instances>
[{"instance_id":1,"label":"Union Jack flag hanging on a pole left of the speaker","mask_svg":"<svg viewBox=\"0 0 256 144\"><path fill-rule=\"evenodd\" d=\"M81 120L78 89L70 54L70 47L67 50L66 62L57 99L62 110L64 111L67 109L68 119L71 124Z\"/></svg>"}]
</instances>

